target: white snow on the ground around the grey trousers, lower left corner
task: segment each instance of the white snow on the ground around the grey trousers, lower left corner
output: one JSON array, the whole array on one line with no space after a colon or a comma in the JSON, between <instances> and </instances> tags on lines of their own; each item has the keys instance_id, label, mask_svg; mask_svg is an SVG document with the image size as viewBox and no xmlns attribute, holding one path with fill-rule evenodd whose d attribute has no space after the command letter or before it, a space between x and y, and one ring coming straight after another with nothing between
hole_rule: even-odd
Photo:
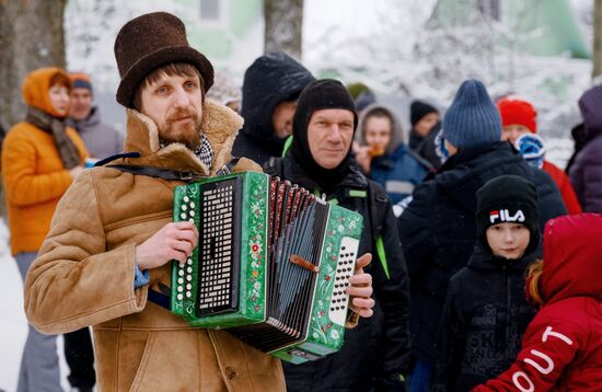
<instances>
[{"instance_id":1,"label":"white snow on the ground around the grey trousers, lower left corner","mask_svg":"<svg viewBox=\"0 0 602 392\"><path fill-rule=\"evenodd\" d=\"M16 391L21 354L27 338L27 321L23 312L23 283L11 256L9 230L0 219L0 391ZM62 388L68 391L67 364L62 356L62 338L58 339Z\"/></svg>"}]
</instances>

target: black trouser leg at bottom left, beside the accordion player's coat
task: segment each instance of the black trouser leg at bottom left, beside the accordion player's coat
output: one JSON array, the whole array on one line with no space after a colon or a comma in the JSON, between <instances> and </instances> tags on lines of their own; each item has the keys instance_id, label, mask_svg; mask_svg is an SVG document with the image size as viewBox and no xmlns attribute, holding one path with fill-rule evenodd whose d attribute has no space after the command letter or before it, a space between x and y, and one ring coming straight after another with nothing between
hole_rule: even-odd
<instances>
[{"instance_id":1,"label":"black trouser leg at bottom left, beside the accordion player's coat","mask_svg":"<svg viewBox=\"0 0 602 392\"><path fill-rule=\"evenodd\" d=\"M94 371L94 349L90 328L84 327L65 334L65 359L69 365L71 373L69 383L80 390L92 389L96 383Z\"/></svg>"}]
</instances>

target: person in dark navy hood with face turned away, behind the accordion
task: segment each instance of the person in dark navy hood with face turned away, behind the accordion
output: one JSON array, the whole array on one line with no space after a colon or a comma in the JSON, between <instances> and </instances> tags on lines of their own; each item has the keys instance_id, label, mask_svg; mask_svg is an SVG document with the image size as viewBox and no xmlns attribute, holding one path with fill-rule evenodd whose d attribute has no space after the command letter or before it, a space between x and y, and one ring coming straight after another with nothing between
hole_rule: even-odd
<instances>
[{"instance_id":1,"label":"person in dark navy hood with face turned away, behind the accordion","mask_svg":"<svg viewBox=\"0 0 602 392\"><path fill-rule=\"evenodd\" d=\"M263 165L280 157L292 132L292 116L301 90L314 77L283 53L257 58L244 73L241 115L244 118L232 154Z\"/></svg>"}]
</instances>

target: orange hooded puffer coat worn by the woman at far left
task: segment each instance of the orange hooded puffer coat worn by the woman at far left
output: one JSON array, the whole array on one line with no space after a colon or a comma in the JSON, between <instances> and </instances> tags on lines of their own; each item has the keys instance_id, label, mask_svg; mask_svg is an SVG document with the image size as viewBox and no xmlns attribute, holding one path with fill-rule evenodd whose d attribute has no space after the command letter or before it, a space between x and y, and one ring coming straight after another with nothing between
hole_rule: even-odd
<instances>
[{"instance_id":1,"label":"orange hooded puffer coat worn by the woman at far left","mask_svg":"<svg viewBox=\"0 0 602 392\"><path fill-rule=\"evenodd\" d=\"M42 68L23 82L23 99L30 106L56 115L48 96L50 79L59 68ZM78 132L67 128L82 164L88 151ZM53 135L30 123L12 127L2 143L2 181L9 214L11 252L37 252L50 228L62 194L71 185Z\"/></svg>"}]
</instances>

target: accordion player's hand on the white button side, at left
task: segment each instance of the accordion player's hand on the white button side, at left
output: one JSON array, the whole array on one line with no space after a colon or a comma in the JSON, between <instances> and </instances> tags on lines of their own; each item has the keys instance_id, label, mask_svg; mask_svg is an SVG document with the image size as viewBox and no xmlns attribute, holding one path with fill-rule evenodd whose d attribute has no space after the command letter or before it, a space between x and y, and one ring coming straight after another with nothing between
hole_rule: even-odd
<instances>
[{"instance_id":1,"label":"accordion player's hand on the white button side, at left","mask_svg":"<svg viewBox=\"0 0 602 392\"><path fill-rule=\"evenodd\" d=\"M136 246L136 263L140 270L160 267L172 260L186 263L197 243L198 230L195 223L167 223Z\"/></svg>"}]
</instances>

